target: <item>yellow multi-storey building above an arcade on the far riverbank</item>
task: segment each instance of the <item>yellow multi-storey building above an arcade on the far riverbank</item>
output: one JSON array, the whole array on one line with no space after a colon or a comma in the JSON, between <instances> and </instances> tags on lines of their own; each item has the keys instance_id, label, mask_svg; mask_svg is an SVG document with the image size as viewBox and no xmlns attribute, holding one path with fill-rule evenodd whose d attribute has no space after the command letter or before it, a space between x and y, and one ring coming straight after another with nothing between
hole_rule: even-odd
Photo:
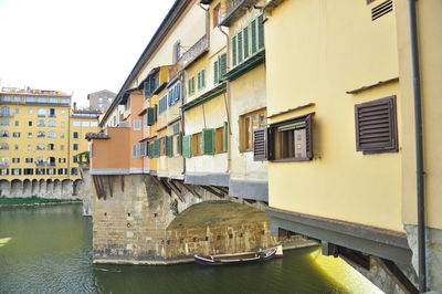
<instances>
[{"instance_id":1,"label":"yellow multi-storey building above an arcade on the far riverbank","mask_svg":"<svg viewBox=\"0 0 442 294\"><path fill-rule=\"evenodd\" d=\"M70 95L30 88L2 88L0 108L2 195L70 195L63 185L81 179L74 156L88 150L85 133L98 129L98 114L71 114Z\"/></svg>"}]
</instances>

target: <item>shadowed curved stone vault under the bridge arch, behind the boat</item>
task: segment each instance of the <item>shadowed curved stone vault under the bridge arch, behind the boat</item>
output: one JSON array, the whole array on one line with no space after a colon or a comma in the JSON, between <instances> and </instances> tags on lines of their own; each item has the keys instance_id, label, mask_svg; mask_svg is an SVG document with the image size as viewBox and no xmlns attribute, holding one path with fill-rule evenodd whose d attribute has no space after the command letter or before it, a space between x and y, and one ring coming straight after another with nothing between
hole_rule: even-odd
<instances>
[{"instance_id":1,"label":"shadowed curved stone vault under the bridge arch, behind the boat","mask_svg":"<svg viewBox=\"0 0 442 294\"><path fill-rule=\"evenodd\" d=\"M179 213L167 227L166 258L252 251L277 244L270 218L250 206L204 201Z\"/></svg>"}]
</instances>

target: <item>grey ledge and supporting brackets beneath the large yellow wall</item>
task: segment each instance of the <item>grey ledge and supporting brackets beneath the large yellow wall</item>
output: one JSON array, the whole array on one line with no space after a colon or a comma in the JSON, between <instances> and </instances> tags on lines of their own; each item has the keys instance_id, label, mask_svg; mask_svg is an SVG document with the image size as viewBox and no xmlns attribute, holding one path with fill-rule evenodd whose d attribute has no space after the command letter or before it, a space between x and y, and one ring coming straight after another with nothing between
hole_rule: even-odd
<instances>
[{"instance_id":1,"label":"grey ledge and supporting brackets beneath the large yellow wall","mask_svg":"<svg viewBox=\"0 0 442 294\"><path fill-rule=\"evenodd\" d=\"M407 234L269 208L272 234L288 230L322 242L323 254L340 256L386 293L418 293Z\"/></svg>"}]
</instances>

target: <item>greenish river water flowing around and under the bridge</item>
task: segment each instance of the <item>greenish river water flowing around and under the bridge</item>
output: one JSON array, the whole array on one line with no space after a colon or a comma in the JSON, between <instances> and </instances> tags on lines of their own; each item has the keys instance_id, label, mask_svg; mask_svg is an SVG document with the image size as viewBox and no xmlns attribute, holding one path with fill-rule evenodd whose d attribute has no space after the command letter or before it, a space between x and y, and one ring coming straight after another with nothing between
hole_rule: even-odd
<instances>
[{"instance_id":1,"label":"greenish river water flowing around and under the bridge","mask_svg":"<svg viewBox=\"0 0 442 294\"><path fill-rule=\"evenodd\" d=\"M0 293L381 293L309 248L261 264L92 264L92 222L77 204L0 209Z\"/></svg>"}]
</instances>

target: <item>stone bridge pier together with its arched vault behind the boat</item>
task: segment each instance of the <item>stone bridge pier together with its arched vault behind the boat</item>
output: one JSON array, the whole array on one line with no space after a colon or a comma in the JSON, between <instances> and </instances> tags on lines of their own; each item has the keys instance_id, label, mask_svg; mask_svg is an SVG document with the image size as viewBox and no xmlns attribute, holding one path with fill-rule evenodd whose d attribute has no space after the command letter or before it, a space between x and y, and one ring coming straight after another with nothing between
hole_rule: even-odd
<instances>
[{"instance_id":1,"label":"stone bridge pier together with its arched vault behind the boat","mask_svg":"<svg viewBox=\"0 0 442 294\"><path fill-rule=\"evenodd\" d=\"M276 244L263 211L215 188L167 181L93 176L94 263L172 264Z\"/></svg>"}]
</instances>

